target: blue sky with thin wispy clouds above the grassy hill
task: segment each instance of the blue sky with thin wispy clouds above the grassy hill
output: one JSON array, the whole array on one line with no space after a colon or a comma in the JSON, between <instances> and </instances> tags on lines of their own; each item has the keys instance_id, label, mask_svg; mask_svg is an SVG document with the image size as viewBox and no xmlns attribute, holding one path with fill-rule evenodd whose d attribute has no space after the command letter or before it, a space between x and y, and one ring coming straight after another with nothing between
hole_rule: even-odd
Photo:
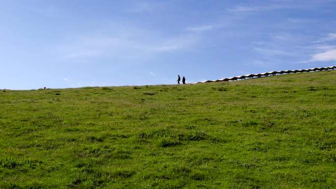
<instances>
[{"instance_id":1,"label":"blue sky with thin wispy clouds above the grassy hill","mask_svg":"<svg viewBox=\"0 0 336 189\"><path fill-rule=\"evenodd\" d=\"M0 88L336 65L336 0L1 0Z\"/></svg>"}]
</instances>

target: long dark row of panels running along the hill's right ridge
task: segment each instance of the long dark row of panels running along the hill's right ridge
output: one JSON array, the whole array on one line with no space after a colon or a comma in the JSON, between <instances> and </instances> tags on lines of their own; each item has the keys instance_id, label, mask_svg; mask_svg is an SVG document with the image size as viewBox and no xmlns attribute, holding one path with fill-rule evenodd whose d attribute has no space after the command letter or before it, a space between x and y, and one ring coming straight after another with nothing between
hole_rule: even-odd
<instances>
[{"instance_id":1,"label":"long dark row of panels running along the hill's right ridge","mask_svg":"<svg viewBox=\"0 0 336 189\"><path fill-rule=\"evenodd\" d=\"M334 70L336 66L329 66L329 67L322 67L322 68L310 68L310 69L303 69L303 70L285 70L285 71L273 71L273 72L266 72L260 74L249 74L244 76L236 76L232 78L224 78L220 80L208 80L208 81L201 81L198 83L203 82L219 82L219 81L236 81L236 80L245 80L245 79L252 79L252 78L261 78L267 76L275 76L277 74L292 74L292 73L302 73L302 72L317 72L317 71L325 71L325 70Z\"/></svg>"}]
</instances>

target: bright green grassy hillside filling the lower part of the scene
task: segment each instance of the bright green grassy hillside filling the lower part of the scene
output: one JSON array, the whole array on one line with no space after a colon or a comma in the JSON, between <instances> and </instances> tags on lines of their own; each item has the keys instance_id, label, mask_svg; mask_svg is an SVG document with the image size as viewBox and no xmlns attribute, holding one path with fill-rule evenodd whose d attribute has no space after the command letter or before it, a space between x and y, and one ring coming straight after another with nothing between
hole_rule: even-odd
<instances>
[{"instance_id":1,"label":"bright green grassy hillside filling the lower part of the scene","mask_svg":"<svg viewBox=\"0 0 336 189\"><path fill-rule=\"evenodd\" d=\"M0 188L336 188L336 71L1 90Z\"/></svg>"}]
</instances>

